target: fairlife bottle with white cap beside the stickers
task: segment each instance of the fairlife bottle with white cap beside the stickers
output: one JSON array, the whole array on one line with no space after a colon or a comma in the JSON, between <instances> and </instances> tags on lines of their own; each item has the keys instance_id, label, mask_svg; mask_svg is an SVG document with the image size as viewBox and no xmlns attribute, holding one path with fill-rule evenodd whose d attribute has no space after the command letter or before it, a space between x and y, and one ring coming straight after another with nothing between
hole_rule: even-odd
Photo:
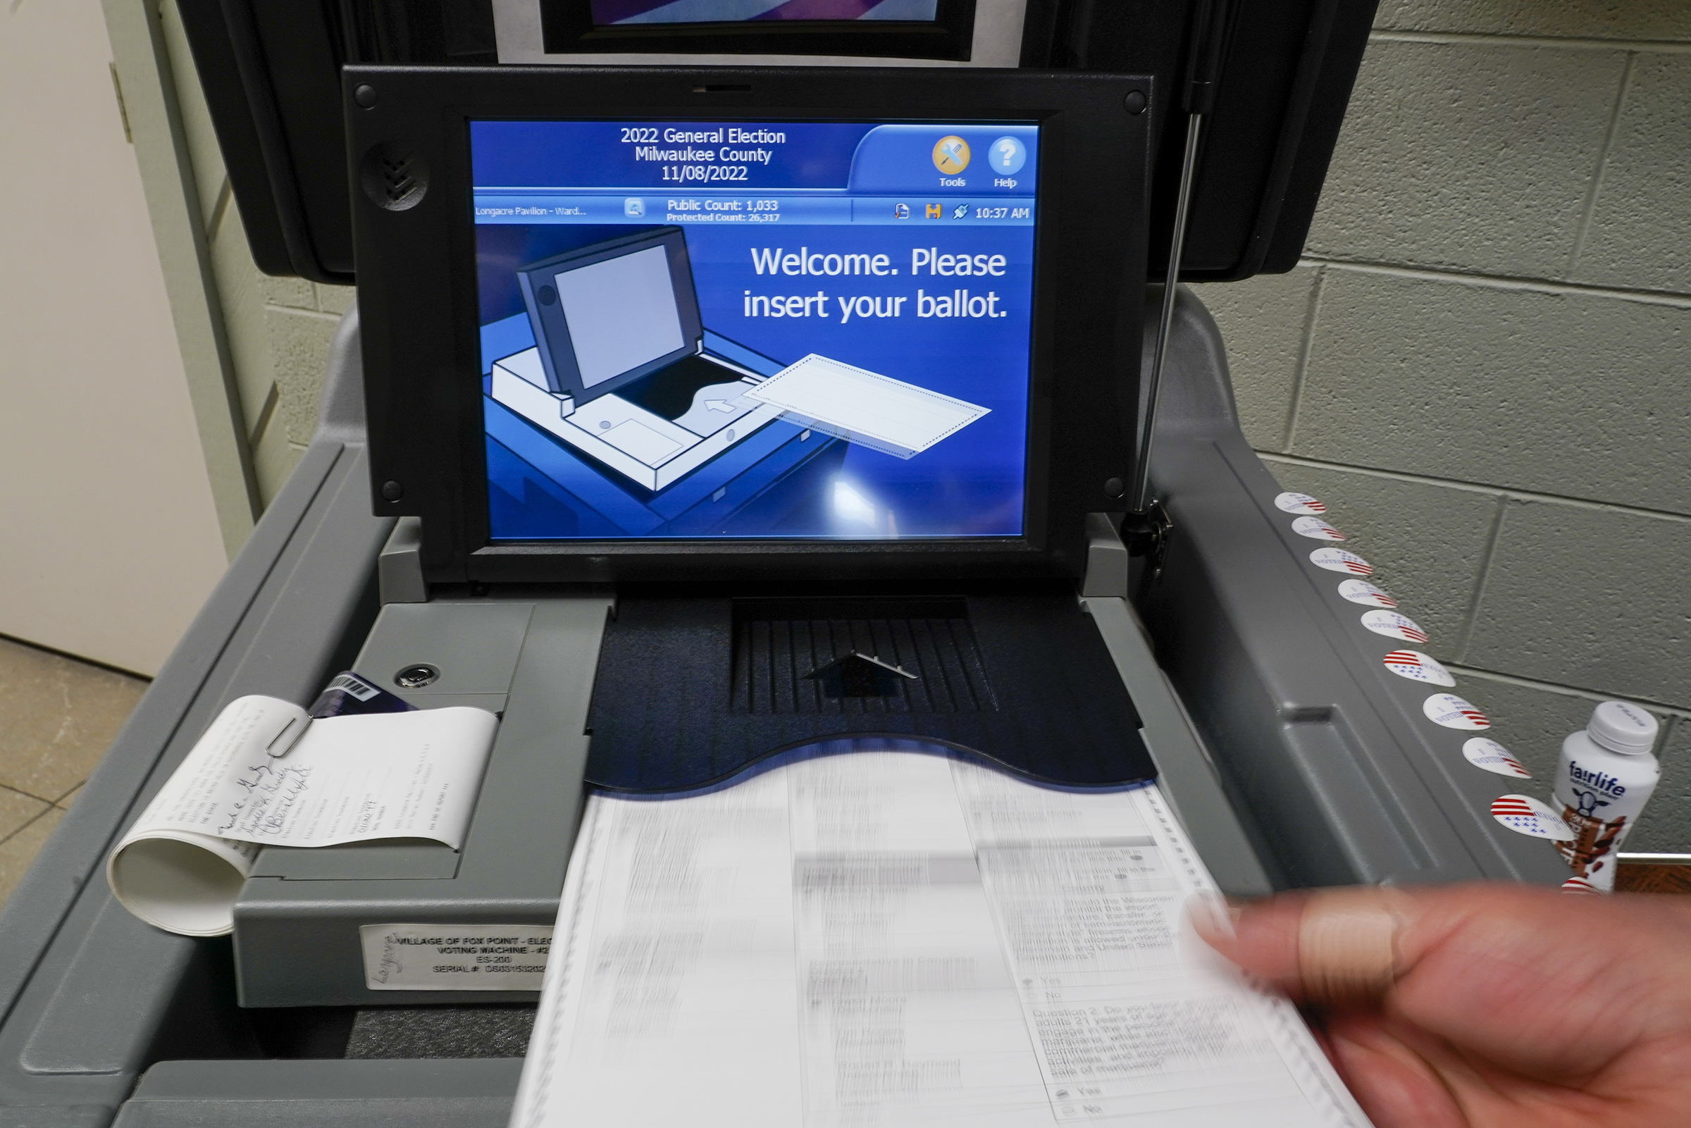
<instances>
[{"instance_id":1,"label":"fairlife bottle with white cap beside the stickers","mask_svg":"<svg viewBox=\"0 0 1691 1128\"><path fill-rule=\"evenodd\" d=\"M1654 744L1655 717L1627 702L1600 704L1591 724L1562 741L1552 800L1574 841L1556 849L1596 890L1615 888L1620 844L1662 775Z\"/></svg>"}]
</instances>

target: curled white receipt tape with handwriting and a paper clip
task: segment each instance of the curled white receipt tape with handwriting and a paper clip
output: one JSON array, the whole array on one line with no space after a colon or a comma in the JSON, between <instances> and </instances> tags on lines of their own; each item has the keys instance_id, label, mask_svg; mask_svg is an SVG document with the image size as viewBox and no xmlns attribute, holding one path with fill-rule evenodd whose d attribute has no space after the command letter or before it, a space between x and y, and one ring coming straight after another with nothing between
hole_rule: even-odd
<instances>
[{"instance_id":1,"label":"curled white receipt tape with handwriting and a paper clip","mask_svg":"<svg viewBox=\"0 0 1691 1128\"><path fill-rule=\"evenodd\" d=\"M482 709L313 719L274 697L237 698L112 851L107 881L147 923L223 935L260 846L458 849L497 724Z\"/></svg>"}]
</instances>

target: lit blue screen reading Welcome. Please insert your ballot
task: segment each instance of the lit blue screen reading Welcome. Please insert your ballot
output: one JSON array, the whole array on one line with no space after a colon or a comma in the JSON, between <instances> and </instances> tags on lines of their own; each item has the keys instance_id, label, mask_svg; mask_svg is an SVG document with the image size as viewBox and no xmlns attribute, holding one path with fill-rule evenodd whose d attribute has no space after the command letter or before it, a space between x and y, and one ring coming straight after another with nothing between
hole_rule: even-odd
<instances>
[{"instance_id":1,"label":"lit blue screen reading Welcome. Please insert your ballot","mask_svg":"<svg viewBox=\"0 0 1691 1128\"><path fill-rule=\"evenodd\" d=\"M492 539L1023 534L1038 127L470 149Z\"/></svg>"}]
</instances>

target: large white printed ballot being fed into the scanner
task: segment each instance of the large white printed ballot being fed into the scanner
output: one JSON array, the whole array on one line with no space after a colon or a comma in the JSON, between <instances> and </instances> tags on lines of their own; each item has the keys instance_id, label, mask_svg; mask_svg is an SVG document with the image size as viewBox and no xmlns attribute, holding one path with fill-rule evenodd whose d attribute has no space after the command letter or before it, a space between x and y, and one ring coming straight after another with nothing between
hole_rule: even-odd
<instances>
[{"instance_id":1,"label":"large white printed ballot being fed into the scanner","mask_svg":"<svg viewBox=\"0 0 1691 1128\"><path fill-rule=\"evenodd\" d=\"M1368 1121L1155 786L861 751L588 800L512 1128Z\"/></svg>"}]
</instances>

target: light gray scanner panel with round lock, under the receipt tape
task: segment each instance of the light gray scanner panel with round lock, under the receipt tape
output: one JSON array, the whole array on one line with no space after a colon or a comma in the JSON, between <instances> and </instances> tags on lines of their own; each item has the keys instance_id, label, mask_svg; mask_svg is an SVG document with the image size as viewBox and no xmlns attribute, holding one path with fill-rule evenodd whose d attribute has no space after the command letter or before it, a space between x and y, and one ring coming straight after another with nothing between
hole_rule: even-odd
<instances>
[{"instance_id":1,"label":"light gray scanner panel with round lock, under the receipt tape","mask_svg":"<svg viewBox=\"0 0 1691 1128\"><path fill-rule=\"evenodd\" d=\"M551 923L558 915L563 869L575 846L587 764L587 707L597 673L599 643L614 605L609 590L582 589L550 599L475 599L446 604L392 604L382 611L370 648L392 627L406 646L389 654L421 658L443 668L463 639L465 654L482 653L487 673L465 673L477 685L507 685L509 707L494 739L487 775L458 868L451 876L389 878L362 871L355 878L326 857L340 847L311 851L331 879L254 876L235 905L235 971L244 1006L326 1006L399 1003L512 1003L533 991L369 991L358 927L367 923ZM514 670L497 675L494 658L506 649L473 641L512 636L521 653ZM421 649L411 649L416 644ZM367 651L369 653L369 651ZM387 661L384 658L382 661ZM428 693L413 700L426 704ZM428 847L418 847L428 849ZM445 847L441 847L445 849ZM267 851L271 854L274 851ZM343 854L345 857L345 854ZM362 862L362 859L357 859ZM294 861L287 862L296 864ZM303 859L301 866L308 864ZM272 862L267 873L276 873ZM325 869L318 869L325 873ZM309 966L298 954L311 952Z\"/></svg>"}]
</instances>

